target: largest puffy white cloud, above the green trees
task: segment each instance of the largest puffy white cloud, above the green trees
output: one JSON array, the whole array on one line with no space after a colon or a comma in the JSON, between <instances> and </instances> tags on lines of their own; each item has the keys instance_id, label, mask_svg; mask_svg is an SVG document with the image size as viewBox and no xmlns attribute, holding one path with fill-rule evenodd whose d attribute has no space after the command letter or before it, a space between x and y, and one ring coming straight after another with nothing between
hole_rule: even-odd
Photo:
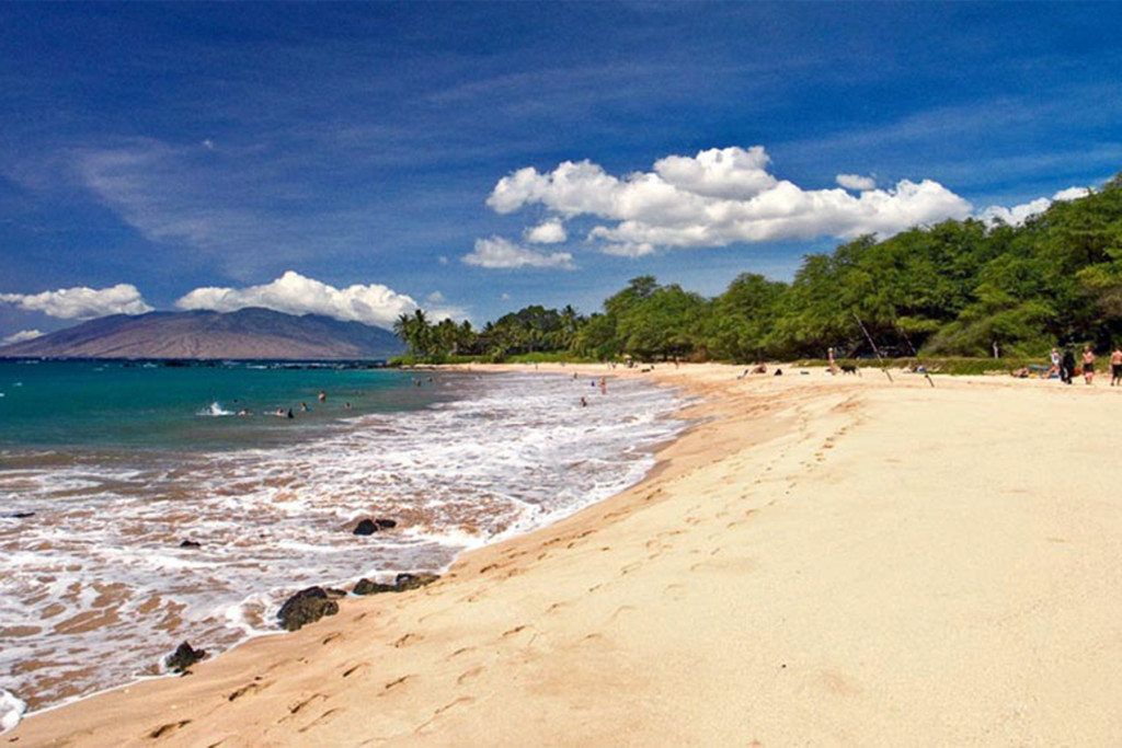
<instances>
[{"instance_id":1,"label":"largest puffy white cloud, above the green trees","mask_svg":"<svg viewBox=\"0 0 1122 748\"><path fill-rule=\"evenodd\" d=\"M668 156L655 161L652 172L625 177L589 160L564 161L552 172L523 168L503 177L487 204L498 213L542 205L563 218L599 219L588 240L601 251L629 257L659 248L886 237L918 224L966 218L972 210L966 200L930 179L903 179L877 190L868 177L839 176L843 186L859 191L854 195L845 188L804 190L770 174L769 165L760 146ZM503 244L504 250L509 247ZM491 251L499 253L497 247Z\"/></svg>"}]
</instances>

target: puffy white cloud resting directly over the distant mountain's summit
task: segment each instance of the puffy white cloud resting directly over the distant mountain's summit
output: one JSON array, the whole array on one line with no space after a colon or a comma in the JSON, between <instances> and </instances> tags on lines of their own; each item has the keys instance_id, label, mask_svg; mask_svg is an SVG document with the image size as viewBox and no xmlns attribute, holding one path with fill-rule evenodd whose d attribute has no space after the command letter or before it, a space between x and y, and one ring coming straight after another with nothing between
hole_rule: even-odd
<instances>
[{"instance_id":1,"label":"puffy white cloud resting directly over the distant mountain's summit","mask_svg":"<svg viewBox=\"0 0 1122 748\"><path fill-rule=\"evenodd\" d=\"M390 327L401 314L419 308L410 296L379 284L335 288L288 270L273 283L247 288L196 288L175 305L181 310L233 312L260 306L286 314L322 314L335 320Z\"/></svg>"}]
</instances>

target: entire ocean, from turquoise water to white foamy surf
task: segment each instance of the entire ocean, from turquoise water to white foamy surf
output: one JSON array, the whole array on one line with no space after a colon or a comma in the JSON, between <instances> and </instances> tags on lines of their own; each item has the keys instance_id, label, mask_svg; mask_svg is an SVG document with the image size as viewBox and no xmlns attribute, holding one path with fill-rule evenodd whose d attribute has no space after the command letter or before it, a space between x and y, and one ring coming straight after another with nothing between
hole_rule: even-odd
<instances>
[{"instance_id":1,"label":"entire ocean, from turquoise water to white foamy surf","mask_svg":"<svg viewBox=\"0 0 1122 748\"><path fill-rule=\"evenodd\" d=\"M680 406L571 375L0 361L0 726L617 493Z\"/></svg>"}]
</instances>

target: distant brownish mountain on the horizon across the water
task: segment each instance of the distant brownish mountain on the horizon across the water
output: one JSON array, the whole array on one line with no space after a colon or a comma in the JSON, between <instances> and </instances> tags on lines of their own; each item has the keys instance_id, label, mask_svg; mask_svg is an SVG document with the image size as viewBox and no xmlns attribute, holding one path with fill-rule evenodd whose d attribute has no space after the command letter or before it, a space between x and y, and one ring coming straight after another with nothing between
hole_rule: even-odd
<instances>
[{"instance_id":1,"label":"distant brownish mountain on the horizon across the water","mask_svg":"<svg viewBox=\"0 0 1122 748\"><path fill-rule=\"evenodd\" d=\"M392 332L360 322L270 310L151 312L91 320L0 348L0 358L388 359L403 350Z\"/></svg>"}]
</instances>

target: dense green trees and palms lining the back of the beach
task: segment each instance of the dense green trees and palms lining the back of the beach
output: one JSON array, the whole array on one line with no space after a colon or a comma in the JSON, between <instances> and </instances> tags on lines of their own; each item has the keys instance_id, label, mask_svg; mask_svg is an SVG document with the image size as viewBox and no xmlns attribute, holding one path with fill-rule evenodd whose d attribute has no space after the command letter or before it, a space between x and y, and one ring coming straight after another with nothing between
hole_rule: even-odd
<instances>
[{"instance_id":1,"label":"dense green trees and palms lining the back of the beach","mask_svg":"<svg viewBox=\"0 0 1122 748\"><path fill-rule=\"evenodd\" d=\"M865 331L862 330L864 325ZM1023 225L969 219L808 255L791 283L752 273L715 298L633 278L601 312L527 306L481 330L403 315L421 360L514 357L644 361L867 357L1036 358L1122 342L1122 174Z\"/></svg>"}]
</instances>

